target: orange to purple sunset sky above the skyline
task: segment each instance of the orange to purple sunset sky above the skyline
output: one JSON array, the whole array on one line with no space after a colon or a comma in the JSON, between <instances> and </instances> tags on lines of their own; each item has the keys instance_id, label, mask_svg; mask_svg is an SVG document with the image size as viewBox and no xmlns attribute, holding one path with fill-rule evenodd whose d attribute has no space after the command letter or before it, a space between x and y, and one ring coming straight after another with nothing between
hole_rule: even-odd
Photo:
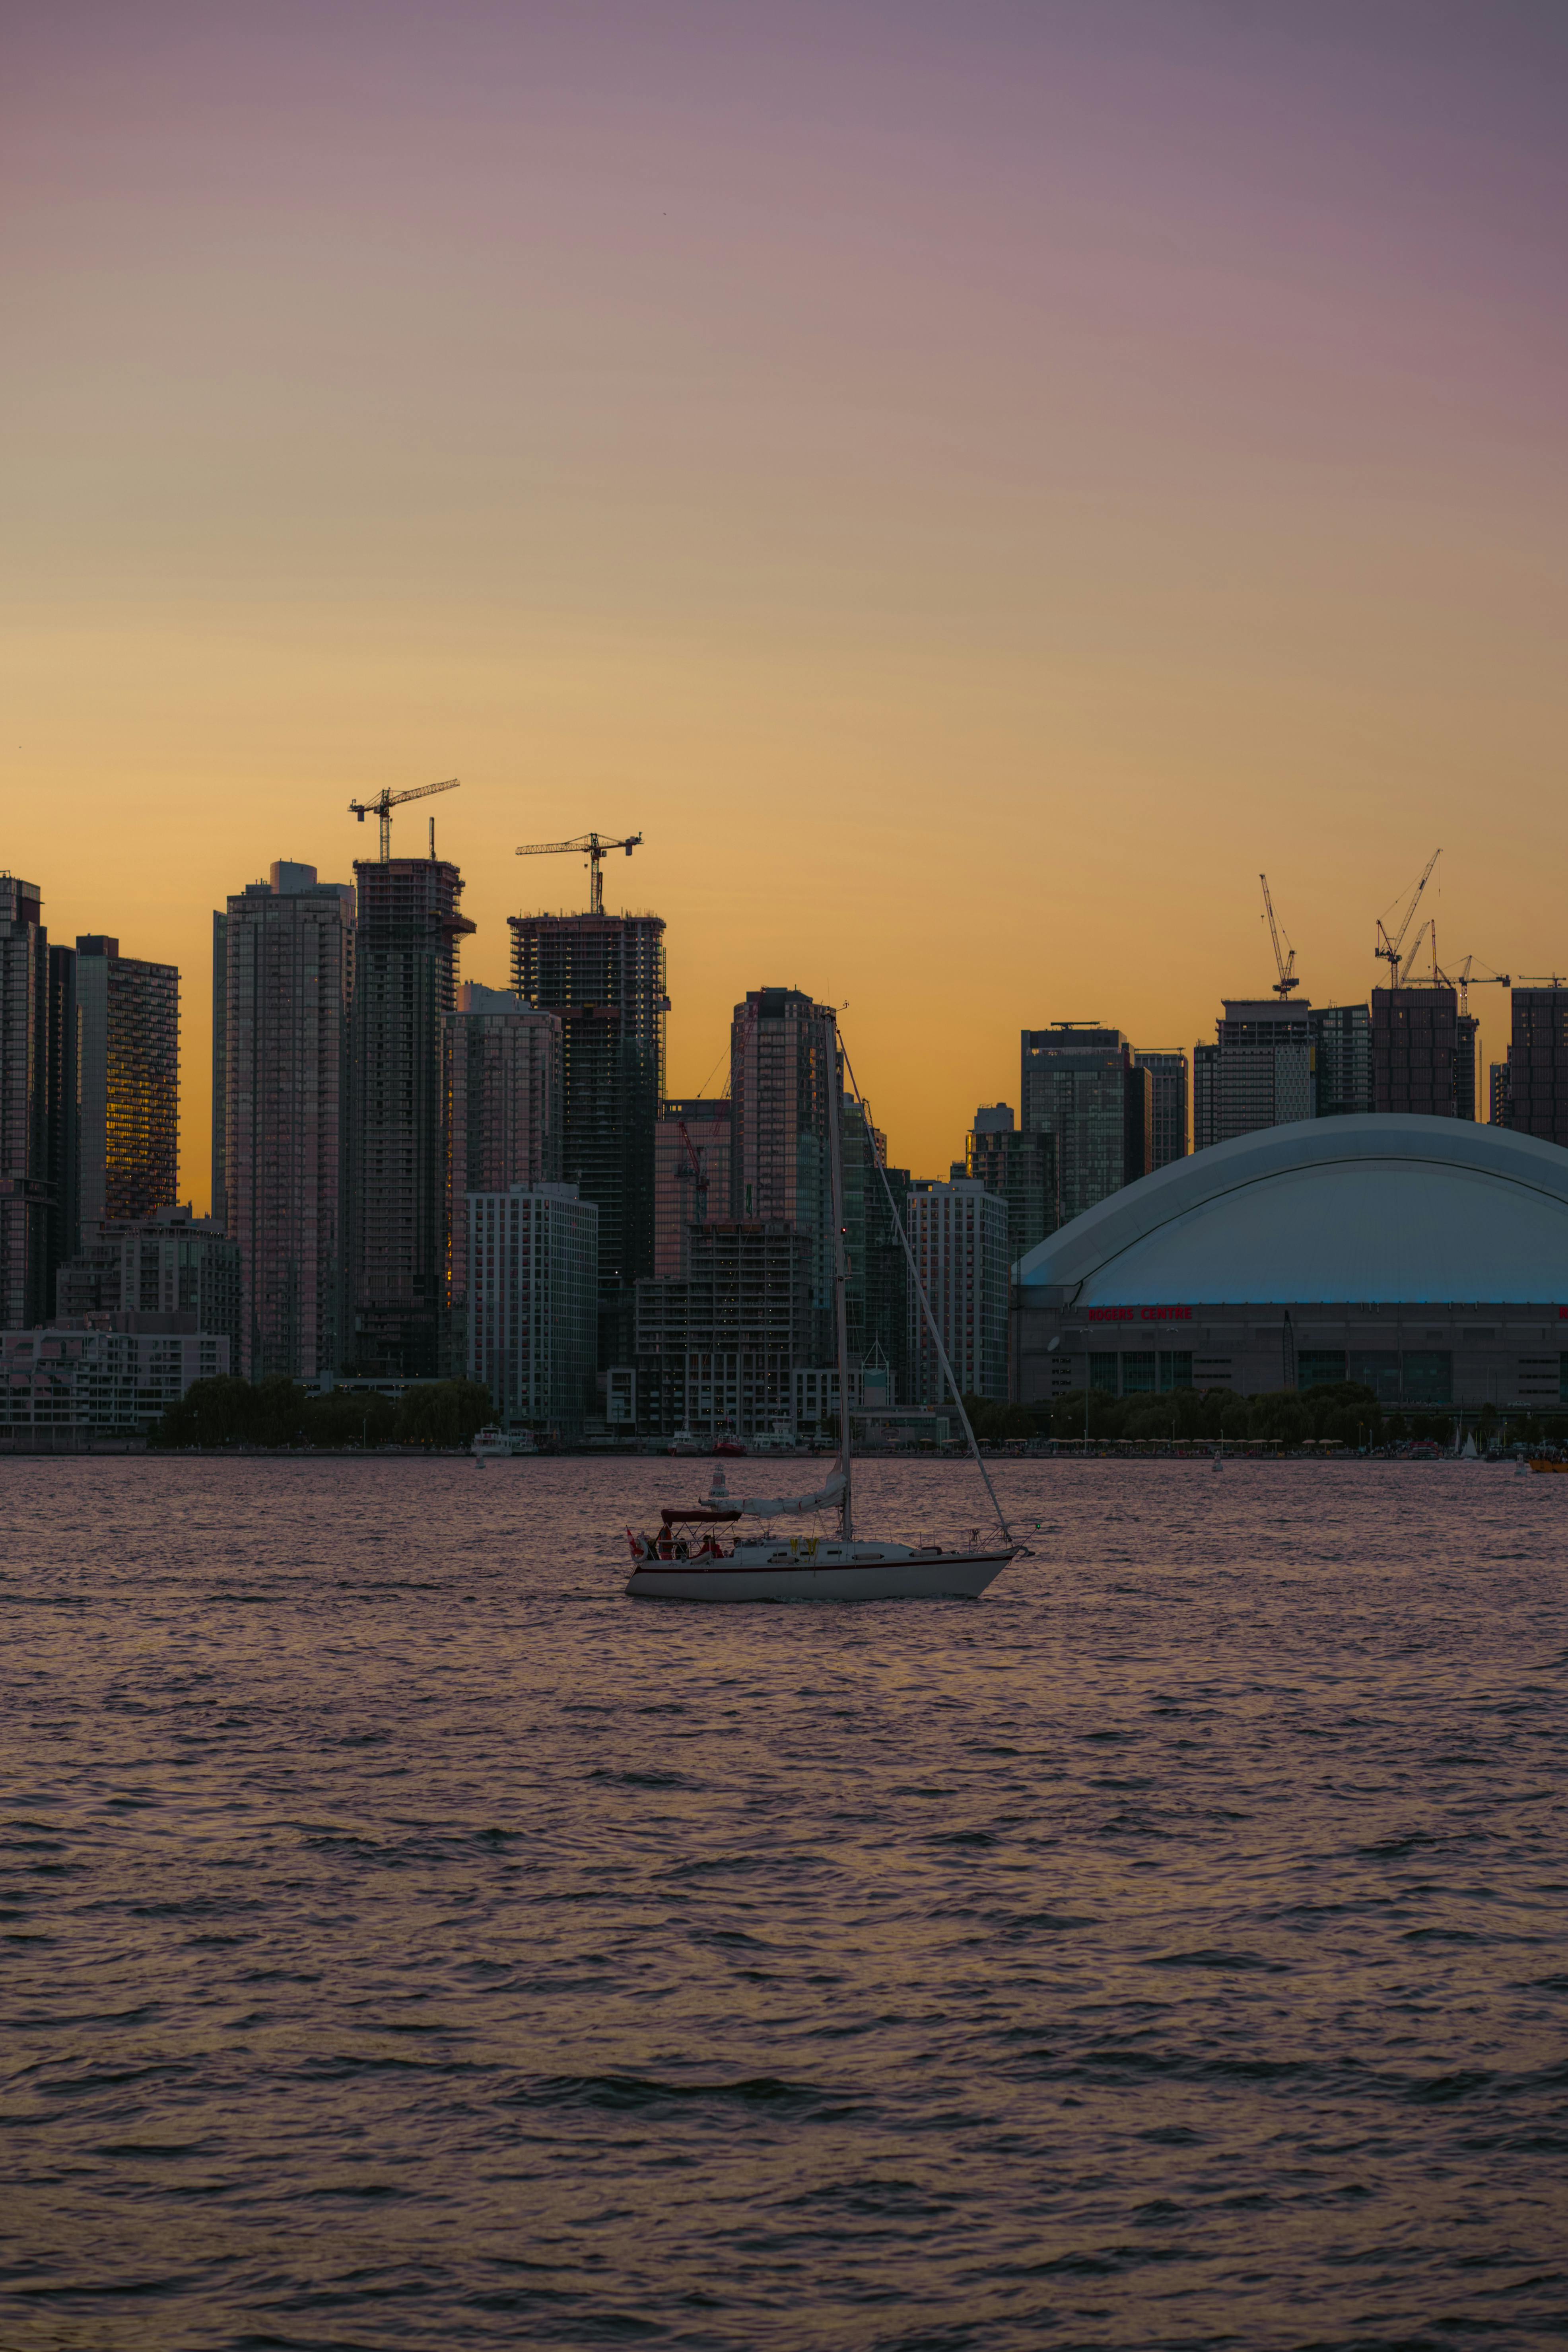
<instances>
[{"instance_id":1,"label":"orange to purple sunset sky above the skyline","mask_svg":"<svg viewBox=\"0 0 1568 2352\"><path fill-rule=\"evenodd\" d=\"M0 866L183 971L437 776L642 830L945 1174L1018 1030L1568 969L1563 0L52 0L0 73ZM421 851L430 809L395 826ZM1479 995L1500 1056L1507 993Z\"/></svg>"}]
</instances>

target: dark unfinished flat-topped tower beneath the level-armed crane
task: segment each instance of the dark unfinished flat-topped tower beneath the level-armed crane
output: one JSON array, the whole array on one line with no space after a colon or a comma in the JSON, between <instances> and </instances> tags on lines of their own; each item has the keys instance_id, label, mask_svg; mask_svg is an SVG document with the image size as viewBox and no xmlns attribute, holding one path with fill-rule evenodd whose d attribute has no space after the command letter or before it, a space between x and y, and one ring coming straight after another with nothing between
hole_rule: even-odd
<instances>
[{"instance_id":1,"label":"dark unfinished flat-topped tower beneath the level-armed crane","mask_svg":"<svg viewBox=\"0 0 1568 2352\"><path fill-rule=\"evenodd\" d=\"M658 915L512 915L512 988L562 1021L562 1176L599 1211L602 1348L630 1341L654 1272L654 1127L665 1091Z\"/></svg>"}]
</instances>

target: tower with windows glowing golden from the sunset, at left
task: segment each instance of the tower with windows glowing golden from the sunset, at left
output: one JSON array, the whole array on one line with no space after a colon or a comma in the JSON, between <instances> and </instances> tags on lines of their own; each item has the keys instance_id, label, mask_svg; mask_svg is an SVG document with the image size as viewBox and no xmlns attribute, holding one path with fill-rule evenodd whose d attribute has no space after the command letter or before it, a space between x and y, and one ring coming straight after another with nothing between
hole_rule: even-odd
<instances>
[{"instance_id":1,"label":"tower with windows glowing golden from the sunset, at left","mask_svg":"<svg viewBox=\"0 0 1568 2352\"><path fill-rule=\"evenodd\" d=\"M80 1218L143 1218L179 1190L179 971L94 931L75 943L75 1002Z\"/></svg>"}]
</instances>

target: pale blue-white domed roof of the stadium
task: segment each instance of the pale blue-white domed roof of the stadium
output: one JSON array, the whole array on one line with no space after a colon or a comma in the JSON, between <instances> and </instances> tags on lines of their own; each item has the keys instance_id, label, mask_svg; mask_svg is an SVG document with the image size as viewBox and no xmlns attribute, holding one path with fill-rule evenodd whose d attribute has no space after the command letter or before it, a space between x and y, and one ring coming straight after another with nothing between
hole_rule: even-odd
<instances>
[{"instance_id":1,"label":"pale blue-white domed roof of the stadium","mask_svg":"<svg viewBox=\"0 0 1568 2352\"><path fill-rule=\"evenodd\" d=\"M1568 1298L1568 1150L1469 1120L1295 1120L1173 1160L1018 1261L1079 1305Z\"/></svg>"}]
</instances>

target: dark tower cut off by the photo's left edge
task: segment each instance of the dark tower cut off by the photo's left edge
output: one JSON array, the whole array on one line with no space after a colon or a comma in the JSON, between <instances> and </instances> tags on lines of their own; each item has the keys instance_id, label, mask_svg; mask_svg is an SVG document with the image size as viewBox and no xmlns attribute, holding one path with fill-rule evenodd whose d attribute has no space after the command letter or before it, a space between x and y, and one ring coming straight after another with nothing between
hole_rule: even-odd
<instances>
[{"instance_id":1,"label":"dark tower cut off by the photo's left edge","mask_svg":"<svg viewBox=\"0 0 1568 2352\"><path fill-rule=\"evenodd\" d=\"M0 1324L49 1312L49 938L35 882L0 875Z\"/></svg>"}]
</instances>

